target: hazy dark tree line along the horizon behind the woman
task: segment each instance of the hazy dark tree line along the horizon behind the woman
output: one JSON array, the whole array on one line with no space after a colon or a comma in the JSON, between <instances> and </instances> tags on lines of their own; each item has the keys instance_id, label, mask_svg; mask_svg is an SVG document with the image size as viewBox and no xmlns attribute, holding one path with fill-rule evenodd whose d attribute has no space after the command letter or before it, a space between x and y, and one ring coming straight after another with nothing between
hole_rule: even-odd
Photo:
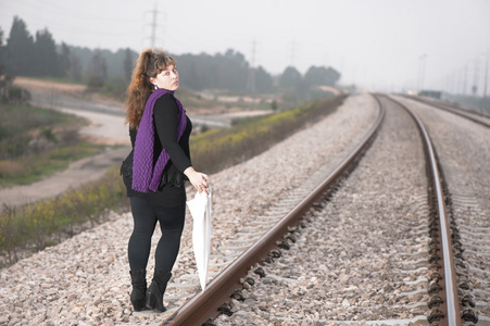
<instances>
[{"instance_id":1,"label":"hazy dark tree line along the horizon behind the woman","mask_svg":"<svg viewBox=\"0 0 490 326\"><path fill-rule=\"evenodd\" d=\"M138 52L126 48L116 52L56 45L48 29L33 37L20 17L14 17L3 45L0 29L0 73L5 76L67 78L91 87L118 84L123 88L130 79ZM173 55L171 53L171 55ZM277 89L304 92L315 86L336 86L340 73L332 67L311 66L302 75L288 66L273 76L264 67L252 67L244 55L231 49L210 55L180 54L177 60L181 85L193 90L226 89L234 92L268 93ZM1 79L0 79L1 80Z\"/></svg>"}]
</instances>

